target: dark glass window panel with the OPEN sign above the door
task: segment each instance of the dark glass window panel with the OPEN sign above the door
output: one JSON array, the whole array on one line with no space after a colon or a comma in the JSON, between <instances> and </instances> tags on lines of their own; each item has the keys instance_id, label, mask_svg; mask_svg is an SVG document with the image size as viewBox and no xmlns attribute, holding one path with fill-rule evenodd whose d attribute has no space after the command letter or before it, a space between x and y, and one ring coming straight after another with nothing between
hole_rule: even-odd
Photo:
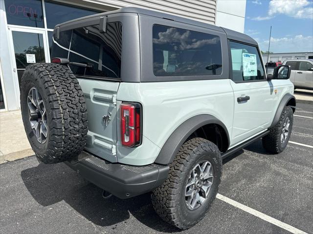
<instances>
[{"instance_id":1,"label":"dark glass window panel with the OPEN sign above the door","mask_svg":"<svg viewBox=\"0 0 313 234\"><path fill-rule=\"evenodd\" d=\"M4 0L8 24L44 28L41 0Z\"/></svg>"}]
</instances>

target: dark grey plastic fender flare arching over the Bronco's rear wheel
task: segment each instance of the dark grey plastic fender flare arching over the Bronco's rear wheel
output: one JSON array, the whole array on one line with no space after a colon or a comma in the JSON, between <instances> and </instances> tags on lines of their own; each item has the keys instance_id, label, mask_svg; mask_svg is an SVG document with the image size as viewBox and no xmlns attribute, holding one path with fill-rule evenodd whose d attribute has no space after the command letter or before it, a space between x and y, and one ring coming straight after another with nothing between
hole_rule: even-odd
<instances>
[{"instance_id":1,"label":"dark grey plastic fender flare arching over the Bronco's rear wheel","mask_svg":"<svg viewBox=\"0 0 313 234\"><path fill-rule=\"evenodd\" d=\"M201 128L206 124L218 124L223 127L227 135L227 147L229 147L229 135L226 126L222 121L211 115L199 115L191 117L185 122L183 122L166 140L163 145L159 155L157 156L155 163L167 165L174 160L177 152L181 145L186 141L186 139L197 129Z\"/></svg>"}]
</instances>

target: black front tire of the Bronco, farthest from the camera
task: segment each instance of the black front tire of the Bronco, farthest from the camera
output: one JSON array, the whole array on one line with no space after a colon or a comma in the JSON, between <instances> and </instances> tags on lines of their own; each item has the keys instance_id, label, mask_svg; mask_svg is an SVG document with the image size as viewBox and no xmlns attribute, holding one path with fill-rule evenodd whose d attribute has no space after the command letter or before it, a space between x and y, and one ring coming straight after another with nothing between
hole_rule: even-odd
<instances>
[{"instance_id":1,"label":"black front tire of the Bronco, farthest from the camera","mask_svg":"<svg viewBox=\"0 0 313 234\"><path fill-rule=\"evenodd\" d=\"M281 135L287 118L290 120L288 136L285 139L285 141L282 142ZM293 111L291 107L286 106L278 120L278 123L274 127L269 129L269 134L267 136L262 138L263 147L266 149L268 153L279 154L284 151L291 136L292 125L293 125Z\"/></svg>"}]
</instances>

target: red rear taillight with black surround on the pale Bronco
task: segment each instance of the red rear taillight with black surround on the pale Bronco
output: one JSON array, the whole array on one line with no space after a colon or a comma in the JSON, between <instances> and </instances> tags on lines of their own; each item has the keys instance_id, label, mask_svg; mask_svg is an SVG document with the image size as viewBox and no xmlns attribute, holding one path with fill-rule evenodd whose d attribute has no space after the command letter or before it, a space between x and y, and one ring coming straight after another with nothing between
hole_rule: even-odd
<instances>
[{"instance_id":1,"label":"red rear taillight with black surround on the pale Bronco","mask_svg":"<svg viewBox=\"0 0 313 234\"><path fill-rule=\"evenodd\" d=\"M141 143L141 105L139 103L123 102L121 112L121 141L127 147L138 146Z\"/></svg>"}]
</instances>

